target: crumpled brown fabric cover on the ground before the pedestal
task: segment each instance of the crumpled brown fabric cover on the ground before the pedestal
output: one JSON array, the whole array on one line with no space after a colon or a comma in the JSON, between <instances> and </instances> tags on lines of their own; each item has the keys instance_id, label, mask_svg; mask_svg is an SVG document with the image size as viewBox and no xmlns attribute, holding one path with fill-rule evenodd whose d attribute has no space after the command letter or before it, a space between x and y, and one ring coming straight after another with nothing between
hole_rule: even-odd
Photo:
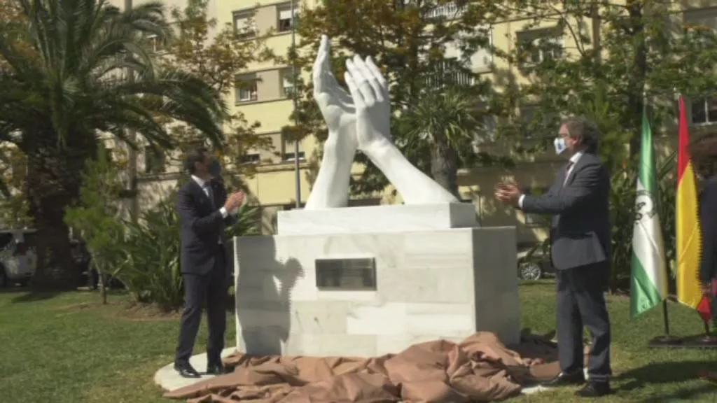
<instances>
[{"instance_id":1,"label":"crumpled brown fabric cover on the ground before the pedestal","mask_svg":"<svg viewBox=\"0 0 717 403\"><path fill-rule=\"evenodd\" d=\"M541 338L525 338L513 351L488 332L460 344L429 341L372 359L236 353L224 360L234 368L231 374L164 396L190 403L490 402L556 376L555 357L554 344Z\"/></svg>"}]
</instances>

